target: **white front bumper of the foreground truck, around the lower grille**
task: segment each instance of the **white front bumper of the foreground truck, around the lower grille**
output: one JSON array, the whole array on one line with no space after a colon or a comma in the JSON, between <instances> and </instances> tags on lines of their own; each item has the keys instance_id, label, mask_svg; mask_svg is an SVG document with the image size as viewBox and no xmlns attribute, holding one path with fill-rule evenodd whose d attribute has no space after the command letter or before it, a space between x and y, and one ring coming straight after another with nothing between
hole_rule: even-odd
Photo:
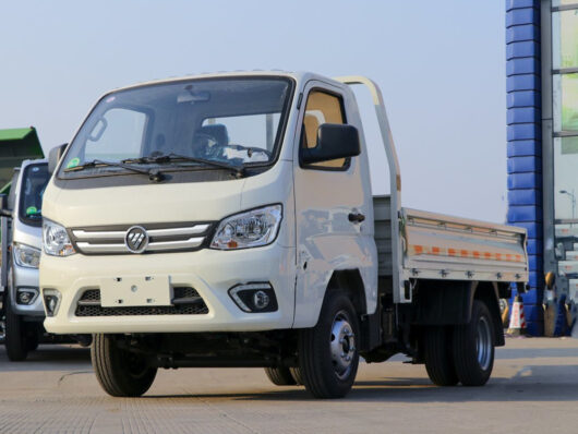
<instances>
[{"instance_id":1,"label":"white front bumper of the foreground truck, around the lower grille","mask_svg":"<svg viewBox=\"0 0 578 434\"><path fill-rule=\"evenodd\" d=\"M290 328L294 310L294 249L275 243L240 251L201 250L185 253L69 257L48 256L40 262L40 288L57 290L60 304L47 316L45 328L56 334L256 331ZM77 316L82 294L98 289L101 279L167 275L172 287L191 287L208 313ZM249 282L268 282L277 310L243 312L229 289ZM115 309L115 308L111 308Z\"/></svg>"}]
</instances>

